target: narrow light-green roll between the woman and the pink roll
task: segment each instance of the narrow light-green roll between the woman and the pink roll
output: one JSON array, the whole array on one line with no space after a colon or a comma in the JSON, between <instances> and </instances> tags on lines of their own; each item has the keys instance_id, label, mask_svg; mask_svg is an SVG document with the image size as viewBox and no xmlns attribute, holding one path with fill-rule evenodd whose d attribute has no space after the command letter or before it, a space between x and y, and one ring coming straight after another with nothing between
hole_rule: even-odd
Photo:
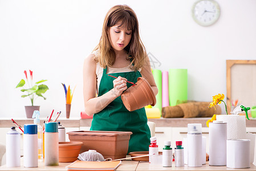
<instances>
[{"instance_id":1,"label":"narrow light-green roll between the woman and the pink roll","mask_svg":"<svg viewBox=\"0 0 256 171\"><path fill-rule=\"evenodd\" d=\"M159 92L156 95L156 105L153 108L159 108L160 113L162 113L162 71L153 70L152 73L156 82L156 86L159 89Z\"/></svg>"}]
</instances>

